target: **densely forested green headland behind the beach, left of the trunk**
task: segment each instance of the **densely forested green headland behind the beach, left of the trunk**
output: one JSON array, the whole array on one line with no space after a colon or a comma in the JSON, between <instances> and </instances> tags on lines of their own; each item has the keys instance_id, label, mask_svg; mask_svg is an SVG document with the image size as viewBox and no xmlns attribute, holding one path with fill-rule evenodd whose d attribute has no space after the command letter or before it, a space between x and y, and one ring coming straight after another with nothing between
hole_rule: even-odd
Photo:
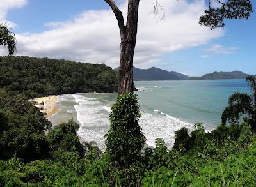
<instances>
[{"instance_id":1,"label":"densely forested green headland behind the beach, left of the trunk","mask_svg":"<svg viewBox=\"0 0 256 187\"><path fill-rule=\"evenodd\" d=\"M115 92L118 79L104 64L36 57L0 57L0 88L28 97L96 91Z\"/></svg>"}]
</instances>

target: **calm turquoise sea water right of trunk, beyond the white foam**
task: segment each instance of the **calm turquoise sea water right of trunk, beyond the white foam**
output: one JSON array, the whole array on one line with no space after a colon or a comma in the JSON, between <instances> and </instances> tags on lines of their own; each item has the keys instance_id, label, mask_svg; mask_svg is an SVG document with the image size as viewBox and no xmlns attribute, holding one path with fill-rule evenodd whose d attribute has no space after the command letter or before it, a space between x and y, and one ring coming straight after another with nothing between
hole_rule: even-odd
<instances>
[{"instance_id":1,"label":"calm turquoise sea water right of trunk, beyond the white foam","mask_svg":"<svg viewBox=\"0 0 256 187\"><path fill-rule=\"evenodd\" d=\"M141 81L136 86L143 90L137 93L143 110L156 109L207 126L221 123L221 112L232 93L249 91L245 80Z\"/></svg>"}]
</instances>

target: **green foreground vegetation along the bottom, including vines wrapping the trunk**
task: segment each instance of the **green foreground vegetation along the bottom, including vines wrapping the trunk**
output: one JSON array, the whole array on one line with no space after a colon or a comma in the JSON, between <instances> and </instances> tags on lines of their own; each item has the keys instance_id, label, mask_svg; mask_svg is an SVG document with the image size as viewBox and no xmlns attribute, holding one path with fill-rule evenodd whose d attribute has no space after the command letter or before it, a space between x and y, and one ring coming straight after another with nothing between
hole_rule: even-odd
<instances>
[{"instance_id":1,"label":"green foreground vegetation along the bottom, including vines wrapping the trunk","mask_svg":"<svg viewBox=\"0 0 256 187\"><path fill-rule=\"evenodd\" d=\"M196 123L191 133L186 128L175 133L173 149L157 139L156 148L141 151L145 138L138 126L138 100L127 93L112 107L107 149L101 153L93 142L79 141L74 121L51 129L26 97L11 98L1 91L0 101L0 186L256 184L256 137L250 121L221 125L211 133Z\"/></svg>"}]
</instances>

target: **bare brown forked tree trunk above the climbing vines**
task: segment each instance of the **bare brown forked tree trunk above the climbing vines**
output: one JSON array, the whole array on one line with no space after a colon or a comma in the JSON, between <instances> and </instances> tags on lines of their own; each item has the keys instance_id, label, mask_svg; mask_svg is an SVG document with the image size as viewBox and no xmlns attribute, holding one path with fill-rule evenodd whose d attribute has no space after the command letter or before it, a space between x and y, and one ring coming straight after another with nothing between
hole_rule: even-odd
<instances>
[{"instance_id":1,"label":"bare brown forked tree trunk above the climbing vines","mask_svg":"<svg viewBox=\"0 0 256 187\"><path fill-rule=\"evenodd\" d=\"M133 57L136 45L138 29L138 10L140 0L129 0L127 23L124 25L124 17L113 0L104 0L112 8L118 20L120 29L120 67L118 96L127 92L133 92Z\"/></svg>"}]
</instances>

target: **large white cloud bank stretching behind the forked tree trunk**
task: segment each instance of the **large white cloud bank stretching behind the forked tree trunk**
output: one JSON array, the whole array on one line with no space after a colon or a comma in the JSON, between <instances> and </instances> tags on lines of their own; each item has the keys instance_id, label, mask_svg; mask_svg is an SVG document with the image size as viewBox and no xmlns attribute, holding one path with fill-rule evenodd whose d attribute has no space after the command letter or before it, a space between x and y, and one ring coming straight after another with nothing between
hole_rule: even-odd
<instances>
[{"instance_id":1,"label":"large white cloud bank stretching behind the forked tree trunk","mask_svg":"<svg viewBox=\"0 0 256 187\"><path fill-rule=\"evenodd\" d=\"M120 2L125 17L127 1ZM152 15L152 0L140 3L134 57L134 65L139 68L157 64L163 54L204 45L224 33L222 29L211 31L199 26L199 17L206 8L204 0L195 0L192 3L186 0L162 0L160 3L166 13L162 21L157 21ZM45 26L50 27L49 31L16 34L17 55L118 66L120 34L115 15L110 8L84 11L73 20L46 23Z\"/></svg>"}]
</instances>

